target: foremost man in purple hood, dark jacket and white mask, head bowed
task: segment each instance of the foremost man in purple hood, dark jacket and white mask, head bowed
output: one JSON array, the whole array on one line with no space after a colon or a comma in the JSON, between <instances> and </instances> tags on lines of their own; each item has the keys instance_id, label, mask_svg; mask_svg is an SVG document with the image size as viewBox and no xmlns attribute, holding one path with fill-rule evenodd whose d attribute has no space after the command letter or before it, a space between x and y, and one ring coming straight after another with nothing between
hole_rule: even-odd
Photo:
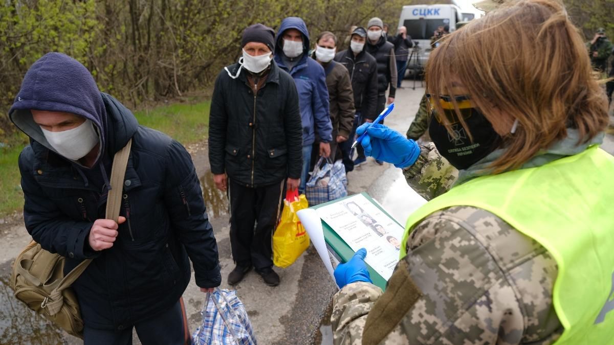
<instances>
[{"instance_id":1,"label":"foremost man in purple hood, dark jacket and white mask, head bowed","mask_svg":"<svg viewBox=\"0 0 614 345\"><path fill-rule=\"evenodd\" d=\"M72 285L85 344L130 344L133 327L143 344L184 343L188 257L201 291L221 280L216 239L184 147L139 126L82 64L61 53L31 66L9 117L31 142L19 157L28 233L66 257L64 273L93 259ZM109 176L130 139L118 225L104 219Z\"/></svg>"}]
</instances>

